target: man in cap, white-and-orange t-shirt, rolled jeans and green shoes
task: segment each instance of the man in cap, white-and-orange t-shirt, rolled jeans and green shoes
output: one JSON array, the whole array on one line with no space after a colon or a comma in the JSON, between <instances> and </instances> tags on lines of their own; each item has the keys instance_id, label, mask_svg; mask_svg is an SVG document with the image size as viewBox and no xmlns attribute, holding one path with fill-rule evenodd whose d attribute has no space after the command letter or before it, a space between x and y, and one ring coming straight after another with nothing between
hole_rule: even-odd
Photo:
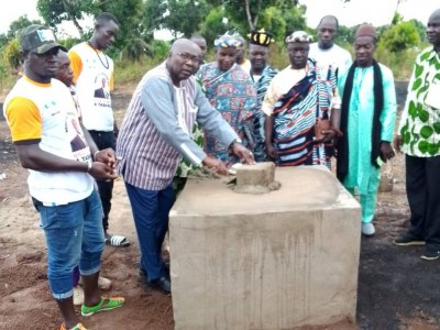
<instances>
[{"instance_id":1,"label":"man in cap, white-and-orange t-shirt, rolled jeans and green shoes","mask_svg":"<svg viewBox=\"0 0 440 330\"><path fill-rule=\"evenodd\" d=\"M114 152L98 151L78 119L68 88L53 79L58 51L52 30L28 26L21 35L24 75L4 100L4 118L47 245L47 278L63 319L62 330L86 328L73 304L73 271L79 266L82 316L121 307L98 289L105 238L95 179L114 179ZM74 143L75 142L75 143Z\"/></svg>"}]
</instances>

